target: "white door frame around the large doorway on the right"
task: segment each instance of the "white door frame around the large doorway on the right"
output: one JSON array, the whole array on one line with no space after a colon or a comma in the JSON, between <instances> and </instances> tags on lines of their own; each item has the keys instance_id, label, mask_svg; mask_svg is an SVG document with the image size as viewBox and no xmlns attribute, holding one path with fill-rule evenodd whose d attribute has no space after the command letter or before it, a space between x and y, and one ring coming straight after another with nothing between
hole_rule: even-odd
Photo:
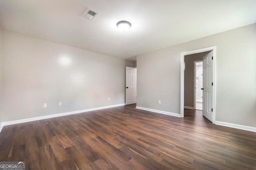
<instances>
[{"instance_id":1,"label":"white door frame around the large doorway on the right","mask_svg":"<svg viewBox=\"0 0 256 170\"><path fill-rule=\"evenodd\" d=\"M211 51L213 53L213 95L212 95L212 123L215 124L216 120L216 46L207 47L203 49L197 49L193 51L187 51L180 53L180 117L184 117L184 56L196 53L202 53L205 51Z\"/></svg>"}]
</instances>

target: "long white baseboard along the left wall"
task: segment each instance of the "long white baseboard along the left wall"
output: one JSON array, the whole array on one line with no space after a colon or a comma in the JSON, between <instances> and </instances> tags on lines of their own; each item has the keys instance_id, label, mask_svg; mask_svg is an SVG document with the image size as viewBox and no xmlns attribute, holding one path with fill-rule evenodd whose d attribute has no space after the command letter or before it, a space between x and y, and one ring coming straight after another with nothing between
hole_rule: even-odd
<instances>
[{"instance_id":1,"label":"long white baseboard along the left wall","mask_svg":"<svg viewBox=\"0 0 256 170\"><path fill-rule=\"evenodd\" d=\"M14 120L14 121L6 121L6 122L2 122L2 126L14 125L14 124L18 124L18 123L25 123L25 122L29 122L29 121L37 121L37 120L42 120L42 119L49 119L49 118L60 117L60 116L65 116L65 115L73 115L73 114L77 114L77 113L84 113L84 112L88 112L88 111L107 109L110 107L118 107L118 106L124 106L124 105L125 104L123 103L123 104L116 104L116 105L110 105L110 106L96 107L96 108L91 108L91 109L70 111L70 112L66 112L66 113L58 113L58 114L53 114L53 115L32 117L32 118L20 119L20 120Z\"/></svg>"}]
</instances>

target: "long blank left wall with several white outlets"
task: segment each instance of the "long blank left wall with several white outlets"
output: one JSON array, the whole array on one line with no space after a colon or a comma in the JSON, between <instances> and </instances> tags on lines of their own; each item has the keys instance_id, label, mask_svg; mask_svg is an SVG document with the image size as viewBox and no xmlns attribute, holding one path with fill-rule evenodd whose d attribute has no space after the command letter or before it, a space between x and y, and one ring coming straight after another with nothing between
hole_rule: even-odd
<instances>
[{"instance_id":1,"label":"long blank left wall with several white outlets","mask_svg":"<svg viewBox=\"0 0 256 170\"><path fill-rule=\"evenodd\" d=\"M125 66L134 62L10 31L2 35L3 121L125 103Z\"/></svg>"}]
</instances>

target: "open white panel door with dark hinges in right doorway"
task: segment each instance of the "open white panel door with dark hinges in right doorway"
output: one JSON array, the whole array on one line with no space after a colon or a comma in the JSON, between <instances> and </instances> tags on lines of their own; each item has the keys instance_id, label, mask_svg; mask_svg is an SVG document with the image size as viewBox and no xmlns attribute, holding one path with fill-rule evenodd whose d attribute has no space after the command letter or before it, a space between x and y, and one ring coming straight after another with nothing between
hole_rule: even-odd
<instances>
[{"instance_id":1,"label":"open white panel door with dark hinges in right doorway","mask_svg":"<svg viewBox=\"0 0 256 170\"><path fill-rule=\"evenodd\" d=\"M203 58L203 116L212 121L213 53Z\"/></svg>"}]
</instances>

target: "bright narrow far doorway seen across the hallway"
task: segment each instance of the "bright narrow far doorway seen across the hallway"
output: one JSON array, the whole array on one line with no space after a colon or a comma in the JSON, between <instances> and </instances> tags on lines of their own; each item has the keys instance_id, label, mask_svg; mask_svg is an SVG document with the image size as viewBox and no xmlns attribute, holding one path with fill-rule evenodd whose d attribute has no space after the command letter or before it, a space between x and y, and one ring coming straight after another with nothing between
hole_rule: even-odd
<instances>
[{"instance_id":1,"label":"bright narrow far doorway seen across the hallway","mask_svg":"<svg viewBox=\"0 0 256 170\"><path fill-rule=\"evenodd\" d=\"M196 110L203 109L203 61L194 61L194 106Z\"/></svg>"}]
</instances>

